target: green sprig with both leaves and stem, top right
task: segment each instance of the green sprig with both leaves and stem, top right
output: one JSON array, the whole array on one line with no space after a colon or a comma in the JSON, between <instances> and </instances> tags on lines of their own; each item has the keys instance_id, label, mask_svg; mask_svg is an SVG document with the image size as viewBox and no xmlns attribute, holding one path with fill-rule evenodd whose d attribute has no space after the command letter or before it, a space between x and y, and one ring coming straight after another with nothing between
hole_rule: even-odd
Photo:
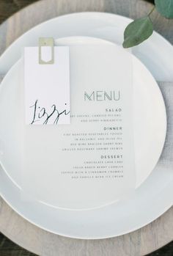
<instances>
[{"instance_id":1,"label":"green sprig with both leaves and stem, top right","mask_svg":"<svg viewBox=\"0 0 173 256\"><path fill-rule=\"evenodd\" d=\"M144 18L131 22L124 32L124 48L130 48L147 40L153 32L151 14L157 10L165 18L173 18L173 0L155 0L155 6Z\"/></svg>"}]
</instances>

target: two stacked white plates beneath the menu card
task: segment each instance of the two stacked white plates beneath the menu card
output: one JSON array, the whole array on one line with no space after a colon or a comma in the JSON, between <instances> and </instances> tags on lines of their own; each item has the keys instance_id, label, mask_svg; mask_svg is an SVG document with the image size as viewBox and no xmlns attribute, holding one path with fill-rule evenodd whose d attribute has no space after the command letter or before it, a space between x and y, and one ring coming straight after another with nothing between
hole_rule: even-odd
<instances>
[{"instance_id":1,"label":"two stacked white plates beneath the menu card","mask_svg":"<svg viewBox=\"0 0 173 256\"><path fill-rule=\"evenodd\" d=\"M166 109L155 79L173 81L173 48L156 33L146 43L133 48L132 53L135 193L127 200L80 211L59 208L51 199L46 202L21 199L22 48L36 46L40 35L54 37L56 45L120 45L129 22L122 16L98 12L54 18L23 34L0 58L0 73L7 73L0 91L0 193L23 218L51 233L73 238L109 238L152 222L172 206L173 172L158 164L166 138Z\"/></svg>"}]
</instances>

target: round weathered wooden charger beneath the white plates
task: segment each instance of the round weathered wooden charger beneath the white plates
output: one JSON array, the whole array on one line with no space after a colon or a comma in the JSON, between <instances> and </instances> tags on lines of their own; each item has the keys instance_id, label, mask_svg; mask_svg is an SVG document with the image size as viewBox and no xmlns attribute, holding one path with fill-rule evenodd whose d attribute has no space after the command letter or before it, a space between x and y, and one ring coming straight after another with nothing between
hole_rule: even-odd
<instances>
[{"instance_id":1,"label":"round weathered wooden charger beneath the white plates","mask_svg":"<svg viewBox=\"0 0 173 256\"><path fill-rule=\"evenodd\" d=\"M26 7L0 26L0 54L23 32L38 23L70 12L113 12L130 18L145 15L151 4L141 0L43 0ZM173 21L152 15L155 29L173 43ZM128 235L85 241L64 238L35 227L12 211L0 198L0 231L16 244L37 255L140 256L155 251L173 239L173 208L163 216Z\"/></svg>"}]
</instances>

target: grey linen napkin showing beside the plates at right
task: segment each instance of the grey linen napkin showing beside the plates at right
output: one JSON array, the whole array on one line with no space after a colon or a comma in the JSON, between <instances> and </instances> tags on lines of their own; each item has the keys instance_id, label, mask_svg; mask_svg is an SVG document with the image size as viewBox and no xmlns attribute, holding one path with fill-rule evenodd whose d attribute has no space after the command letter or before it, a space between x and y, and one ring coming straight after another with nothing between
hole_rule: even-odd
<instances>
[{"instance_id":1,"label":"grey linen napkin showing beside the plates at right","mask_svg":"<svg viewBox=\"0 0 173 256\"><path fill-rule=\"evenodd\" d=\"M0 75L0 83L3 77ZM158 86L166 105L167 132L165 145L157 166L173 171L173 82L158 81Z\"/></svg>"}]
</instances>

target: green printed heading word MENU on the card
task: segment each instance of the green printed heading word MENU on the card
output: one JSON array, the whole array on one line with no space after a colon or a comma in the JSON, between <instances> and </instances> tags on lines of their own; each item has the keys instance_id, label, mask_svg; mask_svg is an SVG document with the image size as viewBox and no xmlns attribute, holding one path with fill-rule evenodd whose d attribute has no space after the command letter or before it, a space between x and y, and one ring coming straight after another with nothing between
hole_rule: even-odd
<instances>
[{"instance_id":1,"label":"green printed heading word MENU on the card","mask_svg":"<svg viewBox=\"0 0 173 256\"><path fill-rule=\"evenodd\" d=\"M84 92L84 100L90 100L90 101L120 100L120 92L119 91Z\"/></svg>"}]
</instances>

